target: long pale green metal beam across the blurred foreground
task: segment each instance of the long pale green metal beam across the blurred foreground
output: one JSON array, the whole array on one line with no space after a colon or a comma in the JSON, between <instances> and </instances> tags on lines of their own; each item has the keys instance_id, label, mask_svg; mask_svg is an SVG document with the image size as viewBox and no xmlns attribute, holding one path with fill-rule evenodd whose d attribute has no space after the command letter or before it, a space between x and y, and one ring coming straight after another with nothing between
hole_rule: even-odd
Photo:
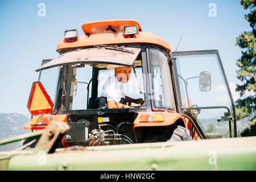
<instances>
[{"instance_id":1,"label":"long pale green metal beam across the blurred foreground","mask_svg":"<svg viewBox=\"0 0 256 182\"><path fill-rule=\"evenodd\" d=\"M256 137L143 143L15 155L9 170L255 170ZM2 161L0 160L0 166ZM22 165L20 165L22 164Z\"/></svg>"}]
</instances>

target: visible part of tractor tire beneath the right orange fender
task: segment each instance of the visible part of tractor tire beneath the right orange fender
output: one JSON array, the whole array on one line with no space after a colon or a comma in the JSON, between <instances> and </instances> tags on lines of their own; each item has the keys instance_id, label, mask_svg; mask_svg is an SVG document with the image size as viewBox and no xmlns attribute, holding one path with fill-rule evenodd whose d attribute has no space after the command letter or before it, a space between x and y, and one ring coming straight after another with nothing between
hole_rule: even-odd
<instances>
[{"instance_id":1,"label":"visible part of tractor tire beneath the right orange fender","mask_svg":"<svg viewBox=\"0 0 256 182\"><path fill-rule=\"evenodd\" d=\"M185 141L185 140L192 140L190 136L190 132L185 127L177 125L172 137L167 142L178 142L178 141Z\"/></svg>"}]
</instances>

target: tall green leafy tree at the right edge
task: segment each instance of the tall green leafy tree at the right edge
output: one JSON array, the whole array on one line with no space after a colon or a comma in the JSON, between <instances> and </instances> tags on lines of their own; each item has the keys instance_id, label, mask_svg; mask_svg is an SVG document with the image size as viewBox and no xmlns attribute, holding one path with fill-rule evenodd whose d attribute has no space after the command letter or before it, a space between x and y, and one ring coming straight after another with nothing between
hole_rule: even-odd
<instances>
[{"instance_id":1,"label":"tall green leafy tree at the right edge","mask_svg":"<svg viewBox=\"0 0 256 182\"><path fill-rule=\"evenodd\" d=\"M245 96L245 92L252 91L256 93L256 30L255 30L255 4L256 0L241 0L240 4L243 6L243 9L249 9L250 13L245 15L245 19L250 23L250 27L253 29L251 32L242 32L238 38L236 46L242 48L241 59L237 60L237 78L241 80L242 84L237 85L236 91L240 92L240 99L236 101L236 113L237 119L242 119L248 117L251 113L254 113L256 110L256 95ZM256 123L256 116L249 121L251 129L254 129ZM252 127L253 126L253 127ZM249 129L250 130L250 129ZM254 131L254 133L253 133ZM251 133L252 132L252 133ZM245 131L250 135L256 135L255 130L251 132ZM242 133L241 133L242 135Z\"/></svg>"}]
</instances>

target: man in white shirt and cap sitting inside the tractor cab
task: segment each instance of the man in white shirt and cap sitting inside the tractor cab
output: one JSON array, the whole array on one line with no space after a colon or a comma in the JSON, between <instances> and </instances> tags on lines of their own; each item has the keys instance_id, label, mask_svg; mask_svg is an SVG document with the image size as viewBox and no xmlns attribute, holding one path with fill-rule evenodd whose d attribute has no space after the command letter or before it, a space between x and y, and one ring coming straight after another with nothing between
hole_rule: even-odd
<instances>
[{"instance_id":1,"label":"man in white shirt and cap sitting inside the tractor cab","mask_svg":"<svg viewBox=\"0 0 256 182\"><path fill-rule=\"evenodd\" d=\"M131 67L122 67L119 65L108 65L108 69L115 69L114 75L106 80L101 97L106 97L109 109L129 108L125 102L134 102L136 104L143 104L143 99L130 98L125 96L123 84L129 81L131 75ZM121 103L120 103L121 102Z\"/></svg>"}]
</instances>

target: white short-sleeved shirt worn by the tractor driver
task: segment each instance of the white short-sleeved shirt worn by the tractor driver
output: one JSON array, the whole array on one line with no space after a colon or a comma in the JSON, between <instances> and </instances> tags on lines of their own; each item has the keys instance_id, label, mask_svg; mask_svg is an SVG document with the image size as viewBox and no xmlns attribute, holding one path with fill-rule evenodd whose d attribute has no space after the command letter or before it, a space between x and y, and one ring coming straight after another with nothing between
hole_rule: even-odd
<instances>
[{"instance_id":1,"label":"white short-sleeved shirt worn by the tractor driver","mask_svg":"<svg viewBox=\"0 0 256 182\"><path fill-rule=\"evenodd\" d=\"M106 97L107 101L120 102L121 98L125 98L123 83L114 75L110 76L102 88L101 97Z\"/></svg>"}]
</instances>

